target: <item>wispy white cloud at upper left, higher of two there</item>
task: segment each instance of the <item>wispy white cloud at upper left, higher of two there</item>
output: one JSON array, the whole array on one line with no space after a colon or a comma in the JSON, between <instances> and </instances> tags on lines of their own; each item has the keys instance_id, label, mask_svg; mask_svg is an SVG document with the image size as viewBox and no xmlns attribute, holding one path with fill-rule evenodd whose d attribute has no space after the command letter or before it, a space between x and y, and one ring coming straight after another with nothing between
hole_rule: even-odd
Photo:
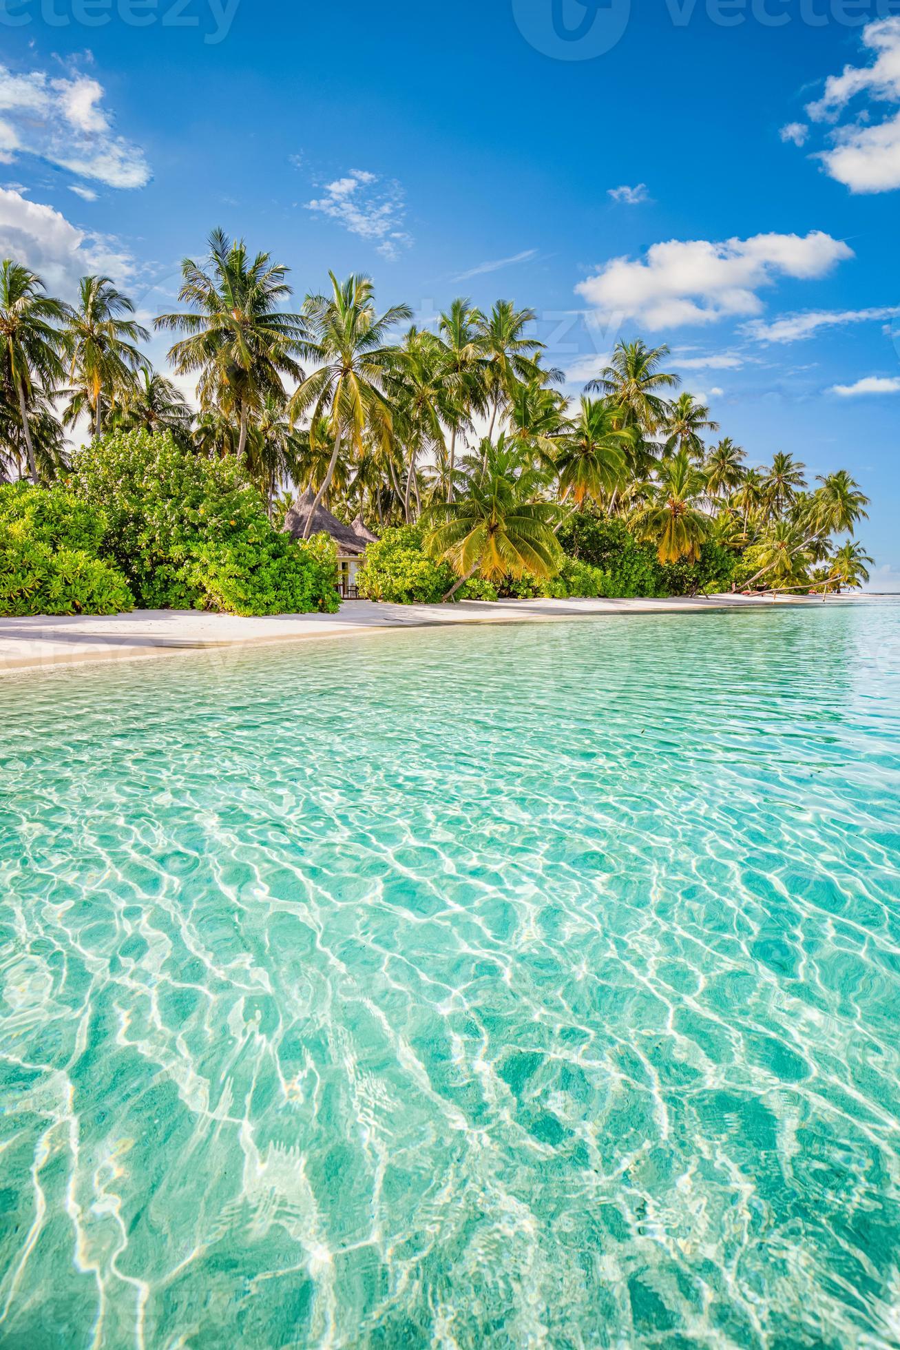
<instances>
[{"instance_id":1,"label":"wispy white cloud at upper left, higher of two there","mask_svg":"<svg viewBox=\"0 0 900 1350\"><path fill-rule=\"evenodd\" d=\"M0 154L32 154L111 188L143 188L150 166L140 146L116 136L100 107L103 86L86 76L51 80L0 65Z\"/></svg>"}]
</instances>

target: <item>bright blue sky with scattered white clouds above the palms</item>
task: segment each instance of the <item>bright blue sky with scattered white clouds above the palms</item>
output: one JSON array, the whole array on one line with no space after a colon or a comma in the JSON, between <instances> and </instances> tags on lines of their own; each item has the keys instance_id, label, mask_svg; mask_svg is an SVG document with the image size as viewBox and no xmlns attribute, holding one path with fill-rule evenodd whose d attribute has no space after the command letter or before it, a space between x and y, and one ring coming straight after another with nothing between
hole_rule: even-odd
<instances>
[{"instance_id":1,"label":"bright blue sky with scattered white clouds above the palms","mask_svg":"<svg viewBox=\"0 0 900 1350\"><path fill-rule=\"evenodd\" d=\"M572 393L665 342L750 462L861 481L900 589L897 0L0 0L0 250L54 289L167 308L220 224L301 296L529 305Z\"/></svg>"}]
</instances>

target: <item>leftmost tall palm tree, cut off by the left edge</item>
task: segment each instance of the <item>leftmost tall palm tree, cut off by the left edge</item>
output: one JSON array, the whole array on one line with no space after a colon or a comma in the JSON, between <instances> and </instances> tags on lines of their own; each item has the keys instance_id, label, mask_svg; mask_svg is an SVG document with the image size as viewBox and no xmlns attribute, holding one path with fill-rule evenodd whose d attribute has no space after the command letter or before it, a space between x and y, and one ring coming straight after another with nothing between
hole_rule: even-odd
<instances>
[{"instance_id":1,"label":"leftmost tall palm tree, cut off by the left edge","mask_svg":"<svg viewBox=\"0 0 900 1350\"><path fill-rule=\"evenodd\" d=\"M66 317L61 300L45 294L40 277L11 258L0 265L0 340L3 381L8 382L19 414L31 482L38 482L28 406L39 393L51 394L63 378L59 359Z\"/></svg>"}]
</instances>

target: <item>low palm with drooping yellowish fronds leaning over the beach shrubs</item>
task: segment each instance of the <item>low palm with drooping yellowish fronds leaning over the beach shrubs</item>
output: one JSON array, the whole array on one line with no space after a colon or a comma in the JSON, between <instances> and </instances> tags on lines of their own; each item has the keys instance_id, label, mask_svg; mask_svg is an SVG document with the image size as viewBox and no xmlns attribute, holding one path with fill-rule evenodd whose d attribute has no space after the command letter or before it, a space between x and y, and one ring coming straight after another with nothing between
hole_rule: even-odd
<instances>
[{"instance_id":1,"label":"low palm with drooping yellowish fronds leaning over the beach shrubs","mask_svg":"<svg viewBox=\"0 0 900 1350\"><path fill-rule=\"evenodd\" d=\"M563 551L553 533L555 506L538 497L541 475L501 435L470 460L466 494L434 506L425 544L449 562L459 580L451 599L480 570L486 580L503 576L553 576Z\"/></svg>"}]
</instances>

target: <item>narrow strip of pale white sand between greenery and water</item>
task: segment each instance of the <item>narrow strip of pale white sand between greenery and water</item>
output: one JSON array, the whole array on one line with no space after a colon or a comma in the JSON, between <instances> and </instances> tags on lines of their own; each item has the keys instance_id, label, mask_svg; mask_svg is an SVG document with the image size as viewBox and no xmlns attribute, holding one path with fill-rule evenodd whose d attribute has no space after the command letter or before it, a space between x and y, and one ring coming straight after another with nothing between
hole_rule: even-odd
<instances>
[{"instance_id":1,"label":"narrow strip of pale white sand between greenery and water","mask_svg":"<svg viewBox=\"0 0 900 1350\"><path fill-rule=\"evenodd\" d=\"M831 598L828 603L834 603ZM838 601L839 602L839 601ZM135 610L131 614L0 618L0 675L82 662L134 660L175 651L202 651L316 637L451 624L546 622L600 614L698 613L820 605L820 598L710 595L668 599L518 599L460 605L376 605L347 601L337 614L278 614L236 618L196 610Z\"/></svg>"}]
</instances>

